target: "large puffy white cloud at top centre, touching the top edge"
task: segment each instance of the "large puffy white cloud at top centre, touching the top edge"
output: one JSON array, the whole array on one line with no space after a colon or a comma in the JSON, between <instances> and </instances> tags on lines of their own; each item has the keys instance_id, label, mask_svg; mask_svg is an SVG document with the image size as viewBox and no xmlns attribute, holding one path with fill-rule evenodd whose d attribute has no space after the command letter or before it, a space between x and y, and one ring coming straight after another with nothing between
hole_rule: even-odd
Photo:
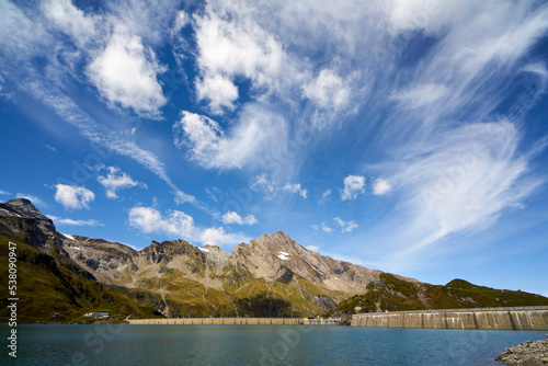
<instances>
[{"instance_id":1,"label":"large puffy white cloud at top centre, touching the top edge","mask_svg":"<svg viewBox=\"0 0 548 366\"><path fill-rule=\"evenodd\" d=\"M260 95L275 89L281 75L290 73L292 68L276 37L240 12L242 8L232 5L208 3L204 13L194 18L198 99L209 101L214 113L221 113L222 106L233 108L238 90L230 79L250 79Z\"/></svg>"}]
</instances>

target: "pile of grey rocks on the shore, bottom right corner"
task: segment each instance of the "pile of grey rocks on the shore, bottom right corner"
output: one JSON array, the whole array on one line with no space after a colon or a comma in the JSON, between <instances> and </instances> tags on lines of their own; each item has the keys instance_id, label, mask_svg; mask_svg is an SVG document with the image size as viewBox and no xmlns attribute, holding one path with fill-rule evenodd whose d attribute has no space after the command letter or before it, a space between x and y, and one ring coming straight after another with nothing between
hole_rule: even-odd
<instances>
[{"instance_id":1,"label":"pile of grey rocks on the shore, bottom right corner","mask_svg":"<svg viewBox=\"0 0 548 366\"><path fill-rule=\"evenodd\" d=\"M506 348L496 361L506 365L548 365L548 340L525 341Z\"/></svg>"}]
</instances>

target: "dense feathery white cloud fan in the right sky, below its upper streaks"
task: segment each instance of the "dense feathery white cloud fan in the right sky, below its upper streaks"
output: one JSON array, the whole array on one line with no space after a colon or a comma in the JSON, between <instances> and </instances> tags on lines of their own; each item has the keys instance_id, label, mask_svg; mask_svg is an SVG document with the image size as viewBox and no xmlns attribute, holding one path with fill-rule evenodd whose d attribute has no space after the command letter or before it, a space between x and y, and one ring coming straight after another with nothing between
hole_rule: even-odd
<instances>
[{"instance_id":1,"label":"dense feathery white cloud fan in the right sky, below its upper streaks","mask_svg":"<svg viewBox=\"0 0 548 366\"><path fill-rule=\"evenodd\" d=\"M509 122L465 125L437 137L393 176L410 218L404 236L415 240L402 254L486 229L545 183L529 174L530 157L517 152L520 134Z\"/></svg>"}]
</instances>

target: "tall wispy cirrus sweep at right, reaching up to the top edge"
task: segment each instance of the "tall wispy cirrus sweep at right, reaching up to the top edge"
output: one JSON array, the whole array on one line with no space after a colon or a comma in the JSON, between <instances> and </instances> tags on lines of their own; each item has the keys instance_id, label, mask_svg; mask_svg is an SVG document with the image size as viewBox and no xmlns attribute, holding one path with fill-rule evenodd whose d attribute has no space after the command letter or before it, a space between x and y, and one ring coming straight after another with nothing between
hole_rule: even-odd
<instances>
[{"instance_id":1,"label":"tall wispy cirrus sweep at right, reaching up to the top edge","mask_svg":"<svg viewBox=\"0 0 548 366\"><path fill-rule=\"evenodd\" d=\"M548 9L533 12L528 2L509 2L496 10L487 3L457 10L439 3L435 15L416 23L403 19L424 11L424 4L391 4L392 32L423 30L437 37L415 73L391 92L400 105L384 128L386 141L399 146L396 168L388 170L403 210L387 226L398 225L402 233L395 240L400 253L410 255L491 227L546 181L532 171L535 153L521 146L522 121L484 121L507 98L504 88L520 72L520 58L548 28ZM518 46L510 46L514 43ZM392 129L393 123L401 129ZM534 146L532 151L544 149L541 140Z\"/></svg>"}]
</instances>

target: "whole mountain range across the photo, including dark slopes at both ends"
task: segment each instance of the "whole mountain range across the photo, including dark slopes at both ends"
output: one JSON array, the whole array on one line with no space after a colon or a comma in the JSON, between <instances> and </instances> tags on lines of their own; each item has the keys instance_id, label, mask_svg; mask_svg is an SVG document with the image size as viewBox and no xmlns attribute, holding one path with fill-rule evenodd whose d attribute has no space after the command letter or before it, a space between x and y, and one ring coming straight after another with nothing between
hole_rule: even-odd
<instances>
[{"instance_id":1,"label":"whole mountain range across the photo, including dark slopes at both ends","mask_svg":"<svg viewBox=\"0 0 548 366\"><path fill-rule=\"evenodd\" d=\"M230 253L184 240L152 241L137 251L61 233L24 198L0 204L4 278L10 241L16 244L22 322L84 321L83 314L92 311L107 311L122 320L548 305L548 298L539 295L465 281L430 285L333 260L305 249L282 231L241 243ZM0 284L3 293L7 285ZM7 307L1 311L4 322Z\"/></svg>"}]
</instances>

